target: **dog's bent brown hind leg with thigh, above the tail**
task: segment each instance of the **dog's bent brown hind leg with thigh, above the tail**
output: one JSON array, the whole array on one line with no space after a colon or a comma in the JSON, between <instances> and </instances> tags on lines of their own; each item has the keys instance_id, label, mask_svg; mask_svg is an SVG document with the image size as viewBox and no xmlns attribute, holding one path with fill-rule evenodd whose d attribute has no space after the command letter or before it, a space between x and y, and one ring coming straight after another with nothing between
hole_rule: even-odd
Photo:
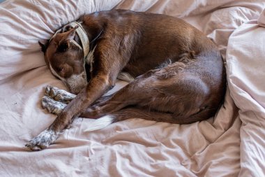
<instances>
[{"instance_id":1,"label":"dog's bent brown hind leg with thigh, above the tail","mask_svg":"<svg viewBox=\"0 0 265 177\"><path fill-rule=\"evenodd\" d=\"M151 116L156 121L185 124L210 118L215 108L212 109L211 99L208 100L209 87L197 74L182 72L183 67L182 63L169 64L163 69L139 76L105 103L88 108L84 117L112 115L122 108L126 109L126 106L138 106L144 108L146 113L164 115L161 118L165 120ZM203 118L199 116L202 113L205 115ZM146 119L151 117L147 116Z\"/></svg>"}]
</instances>

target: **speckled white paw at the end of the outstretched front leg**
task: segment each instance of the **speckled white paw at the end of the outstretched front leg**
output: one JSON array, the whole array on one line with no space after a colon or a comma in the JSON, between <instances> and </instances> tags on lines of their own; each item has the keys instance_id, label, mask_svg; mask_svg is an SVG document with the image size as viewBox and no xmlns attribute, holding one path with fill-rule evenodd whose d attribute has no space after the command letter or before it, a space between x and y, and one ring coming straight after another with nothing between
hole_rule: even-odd
<instances>
[{"instance_id":1,"label":"speckled white paw at the end of the outstretched front leg","mask_svg":"<svg viewBox=\"0 0 265 177\"><path fill-rule=\"evenodd\" d=\"M42 150L50 146L50 144L53 143L58 138L58 136L58 133L46 129L38 136L31 139L31 141L29 141L29 143L27 143L25 146L31 150Z\"/></svg>"}]
</instances>

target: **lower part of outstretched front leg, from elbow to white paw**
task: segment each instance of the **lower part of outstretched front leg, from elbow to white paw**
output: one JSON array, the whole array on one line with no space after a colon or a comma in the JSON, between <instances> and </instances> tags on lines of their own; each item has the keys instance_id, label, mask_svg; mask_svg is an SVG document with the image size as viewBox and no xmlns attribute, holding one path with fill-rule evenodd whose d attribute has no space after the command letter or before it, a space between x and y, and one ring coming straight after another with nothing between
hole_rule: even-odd
<instances>
[{"instance_id":1,"label":"lower part of outstretched front leg, from elbow to white paw","mask_svg":"<svg viewBox=\"0 0 265 177\"><path fill-rule=\"evenodd\" d=\"M41 132L38 136L27 143L31 150L41 150L47 148L65 129L71 120L84 112L98 97L103 95L111 86L106 75L97 75L92 78L89 84L63 109L62 113L54 120L52 125Z\"/></svg>"}]
</instances>

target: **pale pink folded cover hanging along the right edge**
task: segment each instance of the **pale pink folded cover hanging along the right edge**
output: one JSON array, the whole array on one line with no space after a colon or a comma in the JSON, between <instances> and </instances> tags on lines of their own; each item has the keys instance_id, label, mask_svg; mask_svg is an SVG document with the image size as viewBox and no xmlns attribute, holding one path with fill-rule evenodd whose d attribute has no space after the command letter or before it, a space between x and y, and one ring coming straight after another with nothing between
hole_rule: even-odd
<instances>
[{"instance_id":1,"label":"pale pink folded cover hanging along the right edge","mask_svg":"<svg viewBox=\"0 0 265 177\"><path fill-rule=\"evenodd\" d=\"M229 38L229 88L242 122L239 176L265 174L265 9L258 20L236 29Z\"/></svg>"}]
</instances>

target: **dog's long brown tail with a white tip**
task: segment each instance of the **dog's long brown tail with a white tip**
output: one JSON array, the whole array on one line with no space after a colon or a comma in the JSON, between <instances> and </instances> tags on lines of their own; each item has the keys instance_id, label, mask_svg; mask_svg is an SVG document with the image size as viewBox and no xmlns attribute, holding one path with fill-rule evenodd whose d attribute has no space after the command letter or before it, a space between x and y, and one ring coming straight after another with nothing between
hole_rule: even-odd
<instances>
[{"instance_id":1,"label":"dog's long brown tail with a white tip","mask_svg":"<svg viewBox=\"0 0 265 177\"><path fill-rule=\"evenodd\" d=\"M107 127L107 125L113 122L119 122L121 120L127 120L130 118L141 118L144 120L153 120L156 122L169 122L172 124L190 124L197 121L206 120L209 115L214 115L215 111L209 108L205 108L202 111L188 117L177 116L172 113L162 113L156 111L148 111L141 108L124 108L115 113L105 115L101 118L94 120L89 125L86 131L91 132L97 129Z\"/></svg>"}]
</instances>

